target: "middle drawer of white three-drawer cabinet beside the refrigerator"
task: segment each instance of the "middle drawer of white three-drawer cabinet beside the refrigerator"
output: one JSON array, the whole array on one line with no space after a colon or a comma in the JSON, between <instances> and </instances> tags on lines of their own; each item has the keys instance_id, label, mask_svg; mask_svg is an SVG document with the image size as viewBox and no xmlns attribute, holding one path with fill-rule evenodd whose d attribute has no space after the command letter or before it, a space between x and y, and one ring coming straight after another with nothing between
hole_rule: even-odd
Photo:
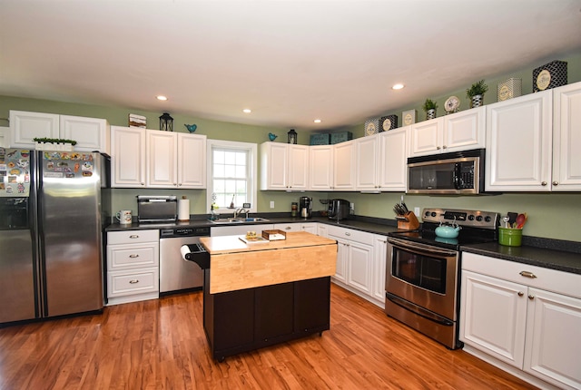
<instances>
[{"instance_id":1,"label":"middle drawer of white three-drawer cabinet beside the refrigerator","mask_svg":"<svg viewBox=\"0 0 581 390\"><path fill-rule=\"evenodd\" d=\"M159 266L159 245L108 245L107 270Z\"/></svg>"}]
</instances>

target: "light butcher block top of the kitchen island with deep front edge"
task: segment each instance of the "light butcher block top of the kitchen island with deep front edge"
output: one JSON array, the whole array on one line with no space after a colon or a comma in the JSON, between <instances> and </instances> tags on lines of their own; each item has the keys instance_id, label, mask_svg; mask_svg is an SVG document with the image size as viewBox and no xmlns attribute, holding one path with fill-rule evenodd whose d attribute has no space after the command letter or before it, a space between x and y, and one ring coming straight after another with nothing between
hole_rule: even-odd
<instances>
[{"instance_id":1,"label":"light butcher block top of the kitchen island with deep front edge","mask_svg":"<svg viewBox=\"0 0 581 390\"><path fill-rule=\"evenodd\" d=\"M245 243L243 236L203 237L210 253L210 294L335 275L337 242L305 231Z\"/></svg>"}]
</instances>

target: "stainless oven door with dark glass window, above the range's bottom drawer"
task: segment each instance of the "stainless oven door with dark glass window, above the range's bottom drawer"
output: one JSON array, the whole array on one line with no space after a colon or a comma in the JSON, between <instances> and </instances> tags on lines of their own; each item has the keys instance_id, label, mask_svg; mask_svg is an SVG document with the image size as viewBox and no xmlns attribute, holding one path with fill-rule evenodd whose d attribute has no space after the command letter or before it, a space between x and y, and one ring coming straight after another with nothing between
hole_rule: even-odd
<instances>
[{"instance_id":1,"label":"stainless oven door with dark glass window, above the range's bottom drawer","mask_svg":"<svg viewBox=\"0 0 581 390\"><path fill-rule=\"evenodd\" d=\"M456 321L458 251L388 239L386 291Z\"/></svg>"}]
</instances>

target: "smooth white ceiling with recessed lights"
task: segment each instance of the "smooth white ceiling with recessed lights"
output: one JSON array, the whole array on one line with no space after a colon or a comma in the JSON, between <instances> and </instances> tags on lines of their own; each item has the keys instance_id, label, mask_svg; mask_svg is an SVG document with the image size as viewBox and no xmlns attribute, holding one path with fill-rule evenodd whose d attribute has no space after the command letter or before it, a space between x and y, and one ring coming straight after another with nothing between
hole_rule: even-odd
<instances>
[{"instance_id":1,"label":"smooth white ceiling with recessed lights","mask_svg":"<svg viewBox=\"0 0 581 390\"><path fill-rule=\"evenodd\" d=\"M0 95L284 128L580 50L581 0L0 0Z\"/></svg>"}]
</instances>

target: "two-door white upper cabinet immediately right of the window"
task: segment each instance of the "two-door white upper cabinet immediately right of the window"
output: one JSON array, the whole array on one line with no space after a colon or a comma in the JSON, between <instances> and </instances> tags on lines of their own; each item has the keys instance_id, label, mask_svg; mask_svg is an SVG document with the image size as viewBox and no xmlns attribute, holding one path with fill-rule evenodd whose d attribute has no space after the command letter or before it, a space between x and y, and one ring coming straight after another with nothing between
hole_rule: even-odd
<instances>
[{"instance_id":1,"label":"two-door white upper cabinet immediately right of the window","mask_svg":"<svg viewBox=\"0 0 581 390\"><path fill-rule=\"evenodd\" d=\"M261 190L307 190L308 186L309 146L261 144Z\"/></svg>"}]
</instances>

